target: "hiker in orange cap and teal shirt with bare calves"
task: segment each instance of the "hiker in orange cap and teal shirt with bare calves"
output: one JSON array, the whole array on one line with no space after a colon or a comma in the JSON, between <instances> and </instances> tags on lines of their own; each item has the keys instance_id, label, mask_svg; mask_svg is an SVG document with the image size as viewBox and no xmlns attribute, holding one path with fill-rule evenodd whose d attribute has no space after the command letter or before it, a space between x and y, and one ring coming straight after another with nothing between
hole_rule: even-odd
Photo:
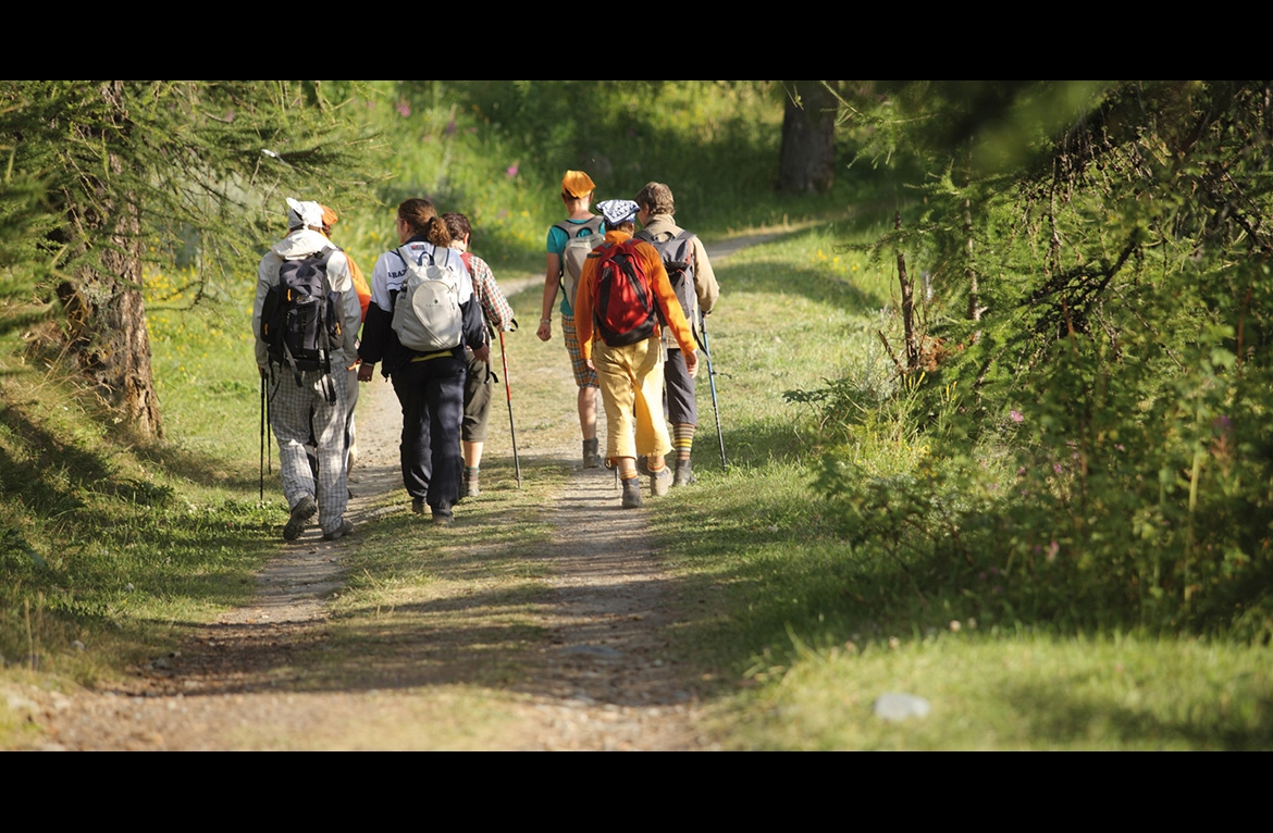
<instances>
[{"instance_id":1,"label":"hiker in orange cap and teal shirt with bare calves","mask_svg":"<svg viewBox=\"0 0 1273 833\"><path fill-rule=\"evenodd\" d=\"M540 341L552 337L552 301L561 289L561 333L574 383L579 388L579 430L583 434L583 467L601 468L597 448L597 374L588 368L579 350L578 320L574 315L574 295L583 261L592 247L602 240L601 217L588 210L592 192L597 186L582 170L566 170L561 177L561 202L566 219L549 229L547 270L544 275L544 308L537 336Z\"/></svg>"}]
</instances>

